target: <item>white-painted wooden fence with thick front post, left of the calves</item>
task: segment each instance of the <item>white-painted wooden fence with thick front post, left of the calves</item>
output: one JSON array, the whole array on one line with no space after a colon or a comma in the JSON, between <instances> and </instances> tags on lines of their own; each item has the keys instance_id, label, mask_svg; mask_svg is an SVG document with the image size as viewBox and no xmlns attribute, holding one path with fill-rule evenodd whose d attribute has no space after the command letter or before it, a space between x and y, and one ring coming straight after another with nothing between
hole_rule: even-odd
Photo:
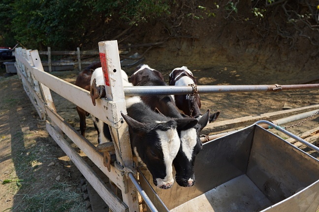
<instances>
[{"instance_id":1,"label":"white-painted wooden fence with thick front post, left of the calves","mask_svg":"<svg viewBox=\"0 0 319 212\"><path fill-rule=\"evenodd\" d=\"M46 129L49 134L78 167L110 209L114 212L138 212L140 211L138 193L131 180L127 178L126 173L112 164L110 172L107 170L103 165L103 157L96 151L96 147L57 113L50 93L50 90L56 92L111 126L115 138L114 143L120 152L120 154L116 155L119 165L133 167L134 162L130 148L128 126L126 122L122 121L121 116L121 112L126 113L124 92L123 89L114 89L121 86L123 88L122 80L115 80L121 79L117 41L100 42L99 52L104 55L104 61L101 60L102 64L104 64L103 71L107 74L107 70L111 70L108 73L109 79L111 79L108 95L112 101L100 99L96 101L96 106L92 105L88 91L44 72L37 50L16 49L17 73L40 118L46 120ZM114 72L114 70L119 71ZM91 167L70 147L64 139L63 133L96 164L112 183L121 189L123 201L105 185Z\"/></svg>"}]
</instances>

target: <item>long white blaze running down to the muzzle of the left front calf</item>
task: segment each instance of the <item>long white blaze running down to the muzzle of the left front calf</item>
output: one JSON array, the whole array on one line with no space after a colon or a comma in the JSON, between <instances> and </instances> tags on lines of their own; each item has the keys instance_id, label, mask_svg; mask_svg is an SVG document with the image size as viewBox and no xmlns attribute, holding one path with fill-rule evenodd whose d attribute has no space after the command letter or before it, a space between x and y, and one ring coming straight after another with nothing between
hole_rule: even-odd
<instances>
[{"instance_id":1,"label":"long white blaze running down to the muzzle of the left front calf","mask_svg":"<svg viewBox=\"0 0 319 212\"><path fill-rule=\"evenodd\" d=\"M156 131L160 138L160 144L163 151L164 163L166 166L166 176L164 179L157 178L158 186L173 184L173 159L176 157L181 145L180 138L176 129L169 129L168 131Z\"/></svg>"}]
</instances>

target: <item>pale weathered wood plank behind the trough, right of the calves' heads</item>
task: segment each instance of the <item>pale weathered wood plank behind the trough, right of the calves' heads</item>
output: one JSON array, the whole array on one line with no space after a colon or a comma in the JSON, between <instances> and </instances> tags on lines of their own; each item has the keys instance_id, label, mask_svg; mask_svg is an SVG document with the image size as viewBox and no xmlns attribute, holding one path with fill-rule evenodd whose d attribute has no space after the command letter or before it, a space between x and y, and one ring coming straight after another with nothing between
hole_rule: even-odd
<instances>
[{"instance_id":1,"label":"pale weathered wood plank behind the trough, right of the calves' heads","mask_svg":"<svg viewBox=\"0 0 319 212\"><path fill-rule=\"evenodd\" d=\"M298 113L307 112L307 111L311 111L315 109L319 109L319 105L305 106L305 107L299 107L299 108L288 109L283 111L263 113L260 115L251 115L251 116L245 116L245 117L235 118L231 120L214 122L214 123L208 124L201 131L201 133L208 134L211 132L222 132L222 131L237 128L237 127L252 125L259 120L271 121L271 120L276 120L276 119L284 118L287 116L291 116L291 115L295 115Z\"/></svg>"}]
</instances>

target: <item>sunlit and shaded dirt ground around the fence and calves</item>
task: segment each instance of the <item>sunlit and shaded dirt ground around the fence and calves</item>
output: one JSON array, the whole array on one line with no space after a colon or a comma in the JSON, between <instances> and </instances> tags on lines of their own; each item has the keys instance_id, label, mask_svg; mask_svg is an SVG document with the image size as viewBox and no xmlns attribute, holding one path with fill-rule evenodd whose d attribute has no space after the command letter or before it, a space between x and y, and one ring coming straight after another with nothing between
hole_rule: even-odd
<instances>
[{"instance_id":1,"label":"sunlit and shaded dirt ground around the fence and calves","mask_svg":"<svg viewBox=\"0 0 319 212\"><path fill-rule=\"evenodd\" d=\"M152 64L151 60L146 59L144 62ZM171 70L167 68L159 71L168 81ZM128 76L133 73L133 69L125 69L125 71ZM259 76L252 77L254 73L241 67L216 66L209 69L191 69L191 71L200 85L295 83L289 80L291 76L287 79L286 74L278 75L280 73L272 78L262 72ZM53 72L52 74L74 83L78 71ZM52 96L59 114L79 131L79 118L75 105L54 92ZM212 111L221 112L217 121L279 111L285 104L291 108L319 104L318 89L278 93L202 94L200 97L202 111L210 108ZM13 180L8 184L0 185L0 211L28 211L28 207L31 207L30 201L34 201L33 196L43 195L47 188L57 184L62 184L61 191L66 194L73 191L74 195L80 195L77 196L77 205L80 208L75 208L73 204L64 206L64 210L61 211L86 211L85 201L81 195L83 176L45 131L45 122L39 119L17 76L0 79L0 99L0 179ZM88 118L87 123L86 137L96 144L96 131L92 120ZM293 123L287 125L290 124ZM298 134L318 126L319 116L317 115L289 131ZM305 149L319 159L319 154L314 151L305 147L301 149ZM16 179L24 181L18 185L14 181ZM41 207L45 208L44 206L45 203L42 203Z\"/></svg>"}]
</instances>

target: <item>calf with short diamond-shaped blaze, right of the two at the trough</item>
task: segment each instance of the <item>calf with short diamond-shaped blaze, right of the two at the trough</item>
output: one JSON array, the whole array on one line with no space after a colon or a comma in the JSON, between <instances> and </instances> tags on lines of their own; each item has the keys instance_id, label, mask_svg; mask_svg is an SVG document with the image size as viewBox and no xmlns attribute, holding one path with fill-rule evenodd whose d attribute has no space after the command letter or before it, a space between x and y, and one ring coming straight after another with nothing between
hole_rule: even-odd
<instances>
[{"instance_id":1,"label":"calf with short diamond-shaped blaze, right of the two at the trough","mask_svg":"<svg viewBox=\"0 0 319 212\"><path fill-rule=\"evenodd\" d=\"M142 64L137 68L129 79L133 85L139 86L161 86L167 85L163 81L163 76L157 70L150 68L148 65ZM141 99L151 109L160 111L165 116L182 119L175 106L171 95L154 95L142 96ZM188 187L195 182L194 178L194 162L196 155L202 149L202 143L199 139L199 132L207 125L209 118L209 110L198 118L198 123L190 129L177 129L181 139L181 146L173 161L176 170L176 182L178 185Z\"/></svg>"}]
</instances>

